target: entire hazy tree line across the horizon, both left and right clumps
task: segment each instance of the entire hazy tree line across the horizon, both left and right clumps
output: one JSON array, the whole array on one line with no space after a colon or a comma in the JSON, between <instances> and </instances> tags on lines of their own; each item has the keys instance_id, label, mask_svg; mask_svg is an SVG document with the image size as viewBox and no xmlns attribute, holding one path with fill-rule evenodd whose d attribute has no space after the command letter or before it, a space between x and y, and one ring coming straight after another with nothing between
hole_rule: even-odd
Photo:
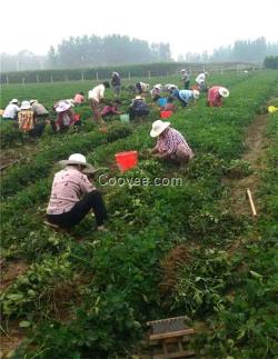
<instances>
[{"instance_id":1,"label":"entire hazy tree line across the horizon, both left and right clumps","mask_svg":"<svg viewBox=\"0 0 278 359\"><path fill-rule=\"evenodd\" d=\"M186 49L186 44L185 44ZM219 47L211 54L185 52L179 62L262 62L266 57L278 56L278 42L267 42L264 37L256 40L238 40L232 46ZM169 43L149 43L127 36L83 36L64 39L57 48L50 47L48 54L36 56L28 50L18 54L1 53L1 71L96 68L151 62L171 62Z\"/></svg>"}]
</instances>

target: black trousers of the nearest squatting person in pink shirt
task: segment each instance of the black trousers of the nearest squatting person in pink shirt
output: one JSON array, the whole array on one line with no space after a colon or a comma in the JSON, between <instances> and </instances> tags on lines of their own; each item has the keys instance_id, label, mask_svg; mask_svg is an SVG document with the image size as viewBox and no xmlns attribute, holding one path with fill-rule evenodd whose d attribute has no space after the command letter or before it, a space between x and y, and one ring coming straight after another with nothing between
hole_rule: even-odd
<instances>
[{"instance_id":1,"label":"black trousers of the nearest squatting person in pink shirt","mask_svg":"<svg viewBox=\"0 0 278 359\"><path fill-rule=\"evenodd\" d=\"M97 190L86 193L69 212L47 215L47 219L50 223L62 228L70 228L78 225L91 209L95 212L97 226L102 226L107 219L107 210L102 196Z\"/></svg>"}]
</instances>

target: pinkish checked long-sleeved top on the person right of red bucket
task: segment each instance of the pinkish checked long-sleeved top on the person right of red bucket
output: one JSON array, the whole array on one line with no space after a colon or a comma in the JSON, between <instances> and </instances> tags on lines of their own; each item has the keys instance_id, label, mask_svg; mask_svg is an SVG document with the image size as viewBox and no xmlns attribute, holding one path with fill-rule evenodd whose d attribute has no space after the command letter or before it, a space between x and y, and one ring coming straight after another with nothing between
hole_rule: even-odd
<instances>
[{"instance_id":1,"label":"pinkish checked long-sleeved top on the person right of red bucket","mask_svg":"<svg viewBox=\"0 0 278 359\"><path fill-rule=\"evenodd\" d=\"M187 143L185 137L177 130L172 128L166 129L163 134L159 136L157 139L156 148L158 151L167 152L168 154L176 153L179 144L183 144L188 150L191 151L189 144Z\"/></svg>"}]
</instances>

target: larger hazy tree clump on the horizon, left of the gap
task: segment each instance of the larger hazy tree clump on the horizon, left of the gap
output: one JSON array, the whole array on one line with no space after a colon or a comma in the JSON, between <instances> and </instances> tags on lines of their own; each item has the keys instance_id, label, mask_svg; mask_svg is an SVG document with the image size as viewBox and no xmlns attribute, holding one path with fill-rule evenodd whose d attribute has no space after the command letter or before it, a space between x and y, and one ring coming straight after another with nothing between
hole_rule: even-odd
<instances>
[{"instance_id":1,"label":"larger hazy tree clump on the horizon, left of the gap","mask_svg":"<svg viewBox=\"0 0 278 359\"><path fill-rule=\"evenodd\" d=\"M57 49L51 46L44 57L37 57L27 50L17 56L1 54L3 72L170 61L173 60L169 43L149 43L145 40L130 39L119 34L70 37L62 40Z\"/></svg>"}]
</instances>

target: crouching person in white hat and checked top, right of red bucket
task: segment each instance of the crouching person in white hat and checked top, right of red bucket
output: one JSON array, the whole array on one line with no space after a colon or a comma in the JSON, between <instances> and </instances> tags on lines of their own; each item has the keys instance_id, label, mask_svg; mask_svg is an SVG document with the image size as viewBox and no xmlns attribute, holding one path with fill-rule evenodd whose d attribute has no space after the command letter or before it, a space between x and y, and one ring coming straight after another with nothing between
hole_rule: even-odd
<instances>
[{"instance_id":1,"label":"crouching person in white hat and checked top, right of red bucket","mask_svg":"<svg viewBox=\"0 0 278 359\"><path fill-rule=\"evenodd\" d=\"M175 161L182 166L193 157L185 137L170 128L170 122L155 121L150 136L157 138L157 144L151 150L151 154L158 159Z\"/></svg>"}]
</instances>

